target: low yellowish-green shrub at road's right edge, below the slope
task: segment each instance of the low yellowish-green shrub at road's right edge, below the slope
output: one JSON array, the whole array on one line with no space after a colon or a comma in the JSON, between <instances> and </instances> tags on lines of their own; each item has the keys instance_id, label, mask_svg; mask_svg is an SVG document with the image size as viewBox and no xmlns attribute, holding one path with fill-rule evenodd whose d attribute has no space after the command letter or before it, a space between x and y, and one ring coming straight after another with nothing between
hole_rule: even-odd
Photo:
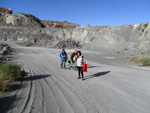
<instances>
[{"instance_id":1,"label":"low yellowish-green shrub at road's right edge, below the slope","mask_svg":"<svg viewBox=\"0 0 150 113\"><path fill-rule=\"evenodd\" d=\"M139 64L140 66L150 66L150 57L133 57L131 62Z\"/></svg>"}]
</instances>

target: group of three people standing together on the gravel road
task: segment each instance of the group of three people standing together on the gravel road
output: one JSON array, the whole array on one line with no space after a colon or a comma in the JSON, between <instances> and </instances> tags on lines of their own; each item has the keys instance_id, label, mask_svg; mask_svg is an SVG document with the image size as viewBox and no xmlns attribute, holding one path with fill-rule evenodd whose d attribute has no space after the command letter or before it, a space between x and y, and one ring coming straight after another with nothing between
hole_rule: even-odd
<instances>
[{"instance_id":1,"label":"group of three people standing together on the gravel road","mask_svg":"<svg viewBox=\"0 0 150 113\"><path fill-rule=\"evenodd\" d=\"M67 53L64 49L62 49L62 52L60 53L61 57L61 68L62 69L67 69L66 68L66 61L68 59ZM75 71L78 70L78 79L84 80L84 74L82 71L83 64L85 63L84 57L82 56L81 51L75 50L71 55L70 55L70 66L69 70L73 68Z\"/></svg>"}]
</instances>

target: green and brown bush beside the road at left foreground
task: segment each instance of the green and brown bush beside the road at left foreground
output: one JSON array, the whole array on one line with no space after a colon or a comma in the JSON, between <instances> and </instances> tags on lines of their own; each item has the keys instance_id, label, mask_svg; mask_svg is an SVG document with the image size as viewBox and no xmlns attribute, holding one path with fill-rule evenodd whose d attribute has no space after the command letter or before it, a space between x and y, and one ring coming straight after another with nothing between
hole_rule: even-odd
<instances>
[{"instance_id":1,"label":"green and brown bush beside the road at left foreground","mask_svg":"<svg viewBox=\"0 0 150 113\"><path fill-rule=\"evenodd\" d=\"M21 69L17 64L4 64L0 66L0 91L8 90L9 82L20 77Z\"/></svg>"}]
</instances>

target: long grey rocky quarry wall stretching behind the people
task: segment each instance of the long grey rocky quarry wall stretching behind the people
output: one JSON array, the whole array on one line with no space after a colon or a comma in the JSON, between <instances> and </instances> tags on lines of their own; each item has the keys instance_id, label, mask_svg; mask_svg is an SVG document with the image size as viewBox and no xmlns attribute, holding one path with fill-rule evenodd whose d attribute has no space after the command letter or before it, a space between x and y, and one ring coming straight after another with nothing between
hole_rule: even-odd
<instances>
[{"instance_id":1,"label":"long grey rocky quarry wall stretching behind the people","mask_svg":"<svg viewBox=\"0 0 150 113\"><path fill-rule=\"evenodd\" d=\"M150 52L150 22L122 26L91 27L86 25L59 29L42 28L39 20L35 21L36 17L33 19L30 16L26 14L2 15L0 19L3 24L6 24L0 26L0 40L23 40L28 46L62 48L82 45L84 49L115 50L131 54ZM34 22L31 21L31 18ZM13 26L8 26L10 23ZM30 27L24 27L29 23ZM38 27L35 28L33 25Z\"/></svg>"}]
</instances>

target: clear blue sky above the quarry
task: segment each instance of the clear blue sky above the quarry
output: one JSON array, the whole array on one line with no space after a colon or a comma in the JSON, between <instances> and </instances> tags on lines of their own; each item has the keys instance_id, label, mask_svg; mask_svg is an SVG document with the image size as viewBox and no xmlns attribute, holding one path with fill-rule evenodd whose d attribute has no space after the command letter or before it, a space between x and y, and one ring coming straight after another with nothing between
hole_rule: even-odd
<instances>
[{"instance_id":1,"label":"clear blue sky above the quarry","mask_svg":"<svg viewBox=\"0 0 150 113\"><path fill-rule=\"evenodd\" d=\"M0 0L13 13L80 25L119 26L150 20L150 0Z\"/></svg>"}]
</instances>

